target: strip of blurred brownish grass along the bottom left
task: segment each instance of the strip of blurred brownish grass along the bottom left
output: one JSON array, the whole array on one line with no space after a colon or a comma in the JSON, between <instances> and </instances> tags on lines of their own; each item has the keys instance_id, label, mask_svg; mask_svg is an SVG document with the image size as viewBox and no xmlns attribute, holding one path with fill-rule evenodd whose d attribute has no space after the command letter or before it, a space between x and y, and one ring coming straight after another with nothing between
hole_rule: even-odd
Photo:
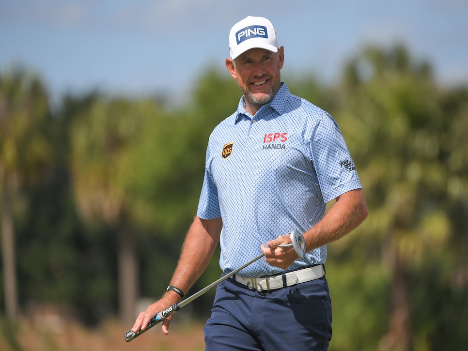
<instances>
[{"instance_id":1,"label":"strip of blurred brownish grass along the bottom left","mask_svg":"<svg viewBox=\"0 0 468 351\"><path fill-rule=\"evenodd\" d=\"M189 321L172 323L169 336L155 326L130 343L124 334L129 326L107 320L94 329L76 322L62 321L51 327L31 320L0 320L2 351L202 351L203 324Z\"/></svg>"}]
</instances>

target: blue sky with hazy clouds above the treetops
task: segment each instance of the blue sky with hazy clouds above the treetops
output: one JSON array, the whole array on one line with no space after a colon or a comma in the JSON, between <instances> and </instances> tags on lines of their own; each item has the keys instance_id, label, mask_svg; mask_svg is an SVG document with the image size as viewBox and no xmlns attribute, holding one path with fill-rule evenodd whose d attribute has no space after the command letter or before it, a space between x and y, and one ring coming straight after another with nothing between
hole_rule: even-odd
<instances>
[{"instance_id":1,"label":"blue sky with hazy clouds above the treetops","mask_svg":"<svg viewBox=\"0 0 468 351\"><path fill-rule=\"evenodd\" d=\"M184 98L208 66L225 69L229 30L247 15L275 26L286 82L312 73L332 83L366 44L395 42L440 83L468 82L468 0L0 0L0 70L22 63L55 97Z\"/></svg>"}]
</instances>

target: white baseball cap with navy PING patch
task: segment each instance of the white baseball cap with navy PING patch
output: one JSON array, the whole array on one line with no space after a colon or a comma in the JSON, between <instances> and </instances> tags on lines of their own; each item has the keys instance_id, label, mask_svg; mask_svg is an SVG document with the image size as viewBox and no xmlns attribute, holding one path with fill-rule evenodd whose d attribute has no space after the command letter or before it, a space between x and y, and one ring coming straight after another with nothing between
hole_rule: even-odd
<instances>
[{"instance_id":1,"label":"white baseball cap with navy PING patch","mask_svg":"<svg viewBox=\"0 0 468 351\"><path fill-rule=\"evenodd\" d=\"M229 32L229 53L232 60L253 48L278 52L276 31L264 17L248 16L234 24Z\"/></svg>"}]
</instances>

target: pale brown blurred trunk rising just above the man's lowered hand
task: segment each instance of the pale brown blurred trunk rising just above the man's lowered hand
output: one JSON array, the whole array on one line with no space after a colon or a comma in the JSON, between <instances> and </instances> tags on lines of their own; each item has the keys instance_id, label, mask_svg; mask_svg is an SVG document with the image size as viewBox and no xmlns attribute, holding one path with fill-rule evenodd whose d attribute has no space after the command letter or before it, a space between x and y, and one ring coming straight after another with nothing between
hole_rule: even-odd
<instances>
[{"instance_id":1,"label":"pale brown blurred trunk rising just above the man's lowered hand","mask_svg":"<svg viewBox=\"0 0 468 351\"><path fill-rule=\"evenodd\" d=\"M120 318L125 324L133 324L136 318L138 270L133 238L125 225L120 233L118 250Z\"/></svg>"}]
</instances>

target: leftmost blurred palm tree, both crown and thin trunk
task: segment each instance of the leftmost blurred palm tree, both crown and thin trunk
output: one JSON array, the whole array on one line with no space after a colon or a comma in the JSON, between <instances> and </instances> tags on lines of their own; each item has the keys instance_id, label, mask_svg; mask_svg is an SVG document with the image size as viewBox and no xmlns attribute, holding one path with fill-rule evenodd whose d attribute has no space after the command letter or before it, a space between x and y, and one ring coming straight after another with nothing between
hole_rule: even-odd
<instances>
[{"instance_id":1,"label":"leftmost blurred palm tree, both crown and thin trunk","mask_svg":"<svg viewBox=\"0 0 468 351\"><path fill-rule=\"evenodd\" d=\"M0 75L0 211L5 310L18 314L13 203L24 183L36 182L54 158L52 123L41 79L12 67Z\"/></svg>"}]
</instances>

